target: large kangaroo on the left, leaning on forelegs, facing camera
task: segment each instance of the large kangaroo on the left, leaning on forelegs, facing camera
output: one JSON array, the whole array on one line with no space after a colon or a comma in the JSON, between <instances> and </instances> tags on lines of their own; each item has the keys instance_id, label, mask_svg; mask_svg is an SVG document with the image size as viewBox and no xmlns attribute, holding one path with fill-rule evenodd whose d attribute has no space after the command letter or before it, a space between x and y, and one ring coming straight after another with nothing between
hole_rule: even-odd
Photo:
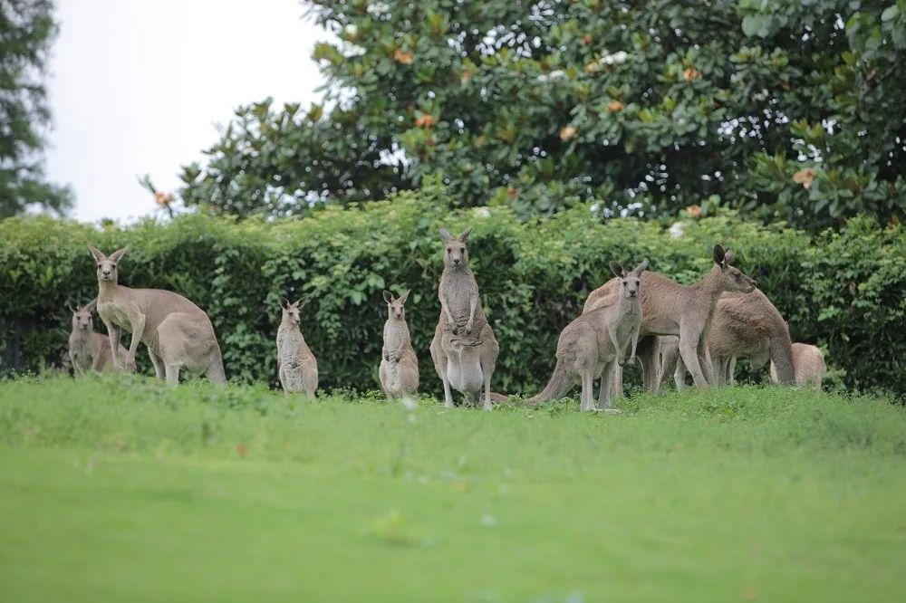
<instances>
[{"instance_id":1,"label":"large kangaroo on the left, leaning on forelegs, facing camera","mask_svg":"<svg viewBox=\"0 0 906 603\"><path fill-rule=\"evenodd\" d=\"M98 315L107 326L111 356L117 369L120 332L132 333L132 358L139 342L148 348L158 378L171 385L179 382L179 370L204 373L212 382L225 385L223 359L214 327L207 314L178 293L162 289L130 289L118 284L117 263L128 247L108 257L88 245L98 262Z\"/></svg>"}]
</instances>

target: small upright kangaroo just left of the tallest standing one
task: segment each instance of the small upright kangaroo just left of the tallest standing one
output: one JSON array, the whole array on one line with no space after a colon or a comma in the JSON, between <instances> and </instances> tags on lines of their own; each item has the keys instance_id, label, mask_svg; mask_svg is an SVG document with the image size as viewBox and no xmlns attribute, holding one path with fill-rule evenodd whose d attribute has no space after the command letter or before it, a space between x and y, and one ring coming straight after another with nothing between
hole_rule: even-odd
<instances>
[{"instance_id":1,"label":"small upright kangaroo just left of the tallest standing one","mask_svg":"<svg viewBox=\"0 0 906 603\"><path fill-rule=\"evenodd\" d=\"M412 348L404 304L409 291L396 300L384 292L387 321L384 322L384 347L381 349L381 388L388 397L410 396L419 390L419 359Z\"/></svg>"}]
</instances>

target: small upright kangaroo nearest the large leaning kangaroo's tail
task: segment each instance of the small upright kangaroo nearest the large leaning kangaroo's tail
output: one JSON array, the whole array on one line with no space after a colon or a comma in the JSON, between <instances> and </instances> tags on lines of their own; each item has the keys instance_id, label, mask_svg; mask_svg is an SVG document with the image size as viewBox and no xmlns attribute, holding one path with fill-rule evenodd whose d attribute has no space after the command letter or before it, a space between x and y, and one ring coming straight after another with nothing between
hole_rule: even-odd
<instances>
[{"instance_id":1,"label":"small upright kangaroo nearest the large leaning kangaroo's tail","mask_svg":"<svg viewBox=\"0 0 906 603\"><path fill-rule=\"evenodd\" d=\"M284 394L305 392L305 396L314 399L314 391L318 388L318 360L299 330L299 302L302 300L294 303L285 298L280 300L283 319L277 328L277 366Z\"/></svg>"}]
</instances>

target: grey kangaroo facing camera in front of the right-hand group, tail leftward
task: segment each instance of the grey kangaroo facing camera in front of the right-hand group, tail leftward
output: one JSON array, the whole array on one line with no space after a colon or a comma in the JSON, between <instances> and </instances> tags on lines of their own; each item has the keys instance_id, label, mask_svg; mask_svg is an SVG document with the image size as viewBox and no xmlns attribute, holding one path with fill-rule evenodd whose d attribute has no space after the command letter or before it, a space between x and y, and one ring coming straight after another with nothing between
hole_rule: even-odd
<instances>
[{"instance_id":1,"label":"grey kangaroo facing camera in front of the right-hand group, tail leftward","mask_svg":"<svg viewBox=\"0 0 906 603\"><path fill-rule=\"evenodd\" d=\"M610 407L614 368L617 364L635 362L642 320L641 273L646 268L648 260L631 273L624 271L620 263L611 262L611 270L619 279L616 295L566 325L557 341L554 374L544 390L528 398L526 404L564 397L578 382L582 384L582 410L593 411L592 381L600 375L598 410ZM628 361L625 358L627 347L630 349Z\"/></svg>"}]
</instances>

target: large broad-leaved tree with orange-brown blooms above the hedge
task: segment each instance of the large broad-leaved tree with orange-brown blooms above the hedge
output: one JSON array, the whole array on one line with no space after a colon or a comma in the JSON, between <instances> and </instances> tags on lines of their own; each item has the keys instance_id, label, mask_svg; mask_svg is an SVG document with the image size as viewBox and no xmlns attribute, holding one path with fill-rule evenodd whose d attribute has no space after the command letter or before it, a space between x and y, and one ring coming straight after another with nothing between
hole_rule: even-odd
<instances>
[{"instance_id":1,"label":"large broad-leaved tree with orange-brown blooms above the hedge","mask_svg":"<svg viewBox=\"0 0 906 603\"><path fill-rule=\"evenodd\" d=\"M184 196L298 212L439 175L463 206L520 215L595 199L602 215L897 219L891 1L310 0L339 39L314 51L333 110L240 110Z\"/></svg>"}]
</instances>

